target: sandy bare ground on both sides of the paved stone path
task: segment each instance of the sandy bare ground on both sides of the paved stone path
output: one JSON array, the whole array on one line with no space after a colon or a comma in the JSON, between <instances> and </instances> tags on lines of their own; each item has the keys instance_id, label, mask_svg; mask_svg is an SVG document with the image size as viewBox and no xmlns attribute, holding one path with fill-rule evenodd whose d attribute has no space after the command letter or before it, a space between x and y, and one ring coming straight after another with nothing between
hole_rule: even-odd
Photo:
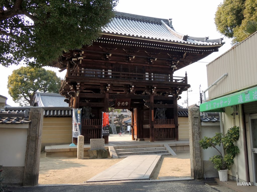
<instances>
[{"instance_id":1,"label":"sandy bare ground on both sides of the paved stone path","mask_svg":"<svg viewBox=\"0 0 257 192\"><path fill-rule=\"evenodd\" d=\"M83 183L122 159L77 159L76 157L40 158L39 184ZM189 152L177 156L164 156L156 167L152 179L190 176Z\"/></svg>"}]
</instances>

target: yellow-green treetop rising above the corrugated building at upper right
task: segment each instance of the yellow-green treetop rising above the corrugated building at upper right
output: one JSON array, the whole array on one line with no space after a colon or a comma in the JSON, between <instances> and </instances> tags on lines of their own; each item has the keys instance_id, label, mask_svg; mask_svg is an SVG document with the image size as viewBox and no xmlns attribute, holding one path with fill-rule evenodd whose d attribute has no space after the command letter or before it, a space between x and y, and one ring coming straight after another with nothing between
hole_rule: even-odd
<instances>
[{"instance_id":1,"label":"yellow-green treetop rising above the corrugated building at upper right","mask_svg":"<svg viewBox=\"0 0 257 192\"><path fill-rule=\"evenodd\" d=\"M224 0L217 8L215 24L217 30L226 37L233 38L232 44L243 41L249 21L257 22L256 0Z\"/></svg>"}]
</instances>

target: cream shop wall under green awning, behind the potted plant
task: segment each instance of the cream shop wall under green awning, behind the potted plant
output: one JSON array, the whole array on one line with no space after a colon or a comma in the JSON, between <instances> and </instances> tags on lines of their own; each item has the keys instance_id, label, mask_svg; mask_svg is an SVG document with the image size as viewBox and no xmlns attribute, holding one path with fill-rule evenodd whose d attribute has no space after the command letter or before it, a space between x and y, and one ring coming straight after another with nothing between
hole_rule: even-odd
<instances>
[{"instance_id":1,"label":"cream shop wall under green awning, behind the potted plant","mask_svg":"<svg viewBox=\"0 0 257 192\"><path fill-rule=\"evenodd\" d=\"M242 115L241 105L225 107L225 112L223 113L223 133L226 134L227 130L231 127L240 127L240 137L235 143L240 153L234 158L234 165L231 166L231 170L228 171L228 174L231 179L235 179L236 173L238 173L239 180L246 181Z\"/></svg>"}]
</instances>

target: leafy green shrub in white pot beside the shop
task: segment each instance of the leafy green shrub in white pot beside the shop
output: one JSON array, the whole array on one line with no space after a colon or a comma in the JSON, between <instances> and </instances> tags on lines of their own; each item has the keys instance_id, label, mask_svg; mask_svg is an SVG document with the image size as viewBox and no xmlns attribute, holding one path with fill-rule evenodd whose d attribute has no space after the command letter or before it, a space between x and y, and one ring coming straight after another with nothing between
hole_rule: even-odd
<instances>
[{"instance_id":1,"label":"leafy green shrub in white pot beside the shop","mask_svg":"<svg viewBox=\"0 0 257 192\"><path fill-rule=\"evenodd\" d=\"M234 157L239 153L239 148L234 144L234 142L239 139L239 127L234 126L228 129L226 135L223 133L216 133L214 137L204 137L199 141L200 146L203 149L216 148L216 146L223 146L225 151L224 157L221 151L217 149L220 155L214 155L210 157L210 161L214 164L214 168L219 173L220 181L227 181L227 171L231 169L231 165L234 164Z\"/></svg>"}]
</instances>

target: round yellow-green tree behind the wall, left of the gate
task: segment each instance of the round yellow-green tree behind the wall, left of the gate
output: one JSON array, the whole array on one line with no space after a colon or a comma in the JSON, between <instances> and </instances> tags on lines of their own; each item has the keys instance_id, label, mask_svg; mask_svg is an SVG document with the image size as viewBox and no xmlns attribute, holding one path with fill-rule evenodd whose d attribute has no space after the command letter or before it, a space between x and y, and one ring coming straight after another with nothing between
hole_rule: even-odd
<instances>
[{"instance_id":1,"label":"round yellow-green tree behind the wall, left of the gate","mask_svg":"<svg viewBox=\"0 0 257 192\"><path fill-rule=\"evenodd\" d=\"M32 105L37 91L58 93L61 80L56 73L44 68L21 67L8 76L8 93L20 106Z\"/></svg>"}]
</instances>

